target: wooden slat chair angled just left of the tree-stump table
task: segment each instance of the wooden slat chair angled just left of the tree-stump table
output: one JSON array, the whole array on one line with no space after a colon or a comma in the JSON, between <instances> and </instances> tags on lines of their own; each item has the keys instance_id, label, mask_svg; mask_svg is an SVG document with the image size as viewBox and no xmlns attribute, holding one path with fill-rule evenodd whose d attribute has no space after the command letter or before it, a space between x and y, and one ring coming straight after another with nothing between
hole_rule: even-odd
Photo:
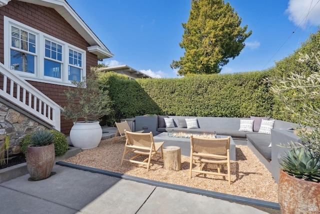
<instances>
[{"instance_id":1,"label":"wooden slat chair angled just left of the tree-stump table","mask_svg":"<svg viewBox=\"0 0 320 214\"><path fill-rule=\"evenodd\" d=\"M124 130L126 140L125 140L125 146L123 151L123 156L121 159L122 166L123 160L133 162L133 163L139 163L147 165L146 172L149 170L151 157L158 153L158 150L161 148L161 154L163 158L163 151L162 151L162 145L164 141L162 142L154 142L152 132L150 133L135 133L131 131ZM128 152L132 151L134 153L134 156L132 156L130 159L124 159L124 155ZM143 161L134 160L136 157L140 155L147 155L148 157L145 158Z\"/></svg>"}]
</instances>

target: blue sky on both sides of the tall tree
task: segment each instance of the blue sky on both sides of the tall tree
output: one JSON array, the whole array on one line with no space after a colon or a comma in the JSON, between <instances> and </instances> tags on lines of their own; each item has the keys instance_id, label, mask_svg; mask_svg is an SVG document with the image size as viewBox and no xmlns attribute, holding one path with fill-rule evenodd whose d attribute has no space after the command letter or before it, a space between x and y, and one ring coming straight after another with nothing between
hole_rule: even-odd
<instances>
[{"instance_id":1,"label":"blue sky on both sides of the tall tree","mask_svg":"<svg viewBox=\"0 0 320 214\"><path fill-rule=\"evenodd\" d=\"M263 70L293 53L320 25L320 0L225 0L252 30L246 47L221 73ZM183 56L181 23L190 0L67 0L114 54L109 66L126 64L153 77L177 77L172 60ZM292 33L294 31L294 33Z\"/></svg>"}]
</instances>

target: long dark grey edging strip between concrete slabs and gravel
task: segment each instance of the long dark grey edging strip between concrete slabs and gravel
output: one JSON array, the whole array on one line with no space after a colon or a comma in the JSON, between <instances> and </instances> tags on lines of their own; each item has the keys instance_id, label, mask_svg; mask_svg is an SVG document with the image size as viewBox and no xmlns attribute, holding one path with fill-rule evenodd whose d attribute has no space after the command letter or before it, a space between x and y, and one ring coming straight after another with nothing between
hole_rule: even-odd
<instances>
[{"instance_id":1,"label":"long dark grey edging strip between concrete slabs and gravel","mask_svg":"<svg viewBox=\"0 0 320 214\"><path fill-rule=\"evenodd\" d=\"M218 198L218 199L223 199L223 200L228 200L228 201L239 202L242 204L250 204L250 205L272 208L272 209L277 209L277 210L280 209L279 204L275 203L275 202L259 200L259 199L249 198L249 197L243 197L243 196L237 196L237 195L232 195L232 194L226 194L226 193L220 193L220 192L215 192L215 191L209 191L209 190L204 190L204 189L198 189L198 188L193 188L193 187L187 187L187 186L182 186L182 185L176 185L176 184L171 184L171 183L165 183L165 182L160 182L160 181L154 181L154 180L135 177L135 176L131 176L131 175L121 174L118 172L112 172L112 171L77 165L77 164L63 162L63 161L58 161L58 162L56 162L56 164L61 165L61 166L70 167L70 168L80 169L83 171L90 171L93 173L99 173L99 174L104 174L104 175L113 176L113 177L117 177L117 178L146 183L149 185L170 188L170 189L185 191L185 192L189 192L189 193L201 194L201 195L214 197L214 198Z\"/></svg>"}]
</instances>

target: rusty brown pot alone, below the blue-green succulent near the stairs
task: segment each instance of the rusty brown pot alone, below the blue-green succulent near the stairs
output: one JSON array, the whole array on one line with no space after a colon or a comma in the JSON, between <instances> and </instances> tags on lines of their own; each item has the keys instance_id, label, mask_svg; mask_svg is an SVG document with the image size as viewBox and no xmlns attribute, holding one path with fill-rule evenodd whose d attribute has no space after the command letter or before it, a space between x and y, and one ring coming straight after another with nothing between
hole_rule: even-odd
<instances>
[{"instance_id":1,"label":"rusty brown pot alone, below the blue-green succulent near the stairs","mask_svg":"<svg viewBox=\"0 0 320 214\"><path fill-rule=\"evenodd\" d=\"M53 143L44 146L31 147L26 150L26 168L33 180L47 178L54 164Z\"/></svg>"}]
</instances>

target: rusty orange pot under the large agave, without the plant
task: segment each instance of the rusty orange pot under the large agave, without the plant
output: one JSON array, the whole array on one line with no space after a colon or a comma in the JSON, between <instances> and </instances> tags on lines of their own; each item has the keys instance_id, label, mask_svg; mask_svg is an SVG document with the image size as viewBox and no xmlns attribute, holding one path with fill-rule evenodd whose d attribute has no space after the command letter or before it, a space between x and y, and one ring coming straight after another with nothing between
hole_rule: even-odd
<instances>
[{"instance_id":1,"label":"rusty orange pot under the large agave, without the plant","mask_svg":"<svg viewBox=\"0 0 320 214\"><path fill-rule=\"evenodd\" d=\"M295 178L280 170L278 201L281 213L320 213L320 183Z\"/></svg>"}]
</instances>

